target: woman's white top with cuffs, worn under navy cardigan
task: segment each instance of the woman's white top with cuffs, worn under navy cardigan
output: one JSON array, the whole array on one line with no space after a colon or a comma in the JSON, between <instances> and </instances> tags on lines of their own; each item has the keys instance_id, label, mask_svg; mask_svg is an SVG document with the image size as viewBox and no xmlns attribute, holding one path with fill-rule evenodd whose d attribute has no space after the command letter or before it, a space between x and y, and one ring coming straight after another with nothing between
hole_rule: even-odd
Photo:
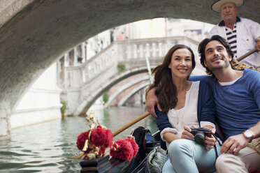
<instances>
[{"instance_id":1,"label":"woman's white top with cuffs, worn under navy cardigan","mask_svg":"<svg viewBox=\"0 0 260 173\"><path fill-rule=\"evenodd\" d=\"M173 128L164 128L161 131L161 139L166 142L164 139L164 133L171 132L181 137L182 132L184 131L184 126L189 126L194 128L198 128L198 116L197 116L197 108L198 108L198 88L199 81L192 82L192 86L189 91L186 92L185 98L185 107L182 107L180 110L171 109L168 111L168 119ZM212 126L215 128L215 124L209 121L201 121L201 127L204 126ZM168 142L166 142L166 146L168 148Z\"/></svg>"}]
</instances>

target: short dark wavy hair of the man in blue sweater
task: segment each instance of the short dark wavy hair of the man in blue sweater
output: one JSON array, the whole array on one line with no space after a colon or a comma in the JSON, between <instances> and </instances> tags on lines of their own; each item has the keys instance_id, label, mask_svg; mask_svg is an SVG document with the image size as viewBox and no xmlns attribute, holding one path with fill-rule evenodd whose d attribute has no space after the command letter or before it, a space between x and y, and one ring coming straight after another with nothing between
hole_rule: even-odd
<instances>
[{"instance_id":1,"label":"short dark wavy hair of the man in blue sweater","mask_svg":"<svg viewBox=\"0 0 260 173\"><path fill-rule=\"evenodd\" d=\"M226 41L225 38L222 38L221 36L215 35L215 36L212 36L211 38L205 38L205 39L202 40L201 43L199 43L199 45L198 45L198 54L199 54L200 57L201 57L201 65L206 69L206 73L207 73L208 75L214 75L214 74L212 73L212 71L211 71L210 69L208 69L208 67L206 67L206 66L204 65L204 61L205 61L205 47L206 47L206 45L208 45L208 43L210 43L210 41L212 41L212 40L217 40L217 41L219 41L219 42L226 48L226 52L228 52L228 54L229 54L229 55L231 56L231 58L232 58L231 61L230 61L231 68L235 69L235 68L233 67L233 64L232 64L234 54L233 54L233 52L232 52L232 50L231 50L231 47L229 46L229 43Z\"/></svg>"}]
</instances>

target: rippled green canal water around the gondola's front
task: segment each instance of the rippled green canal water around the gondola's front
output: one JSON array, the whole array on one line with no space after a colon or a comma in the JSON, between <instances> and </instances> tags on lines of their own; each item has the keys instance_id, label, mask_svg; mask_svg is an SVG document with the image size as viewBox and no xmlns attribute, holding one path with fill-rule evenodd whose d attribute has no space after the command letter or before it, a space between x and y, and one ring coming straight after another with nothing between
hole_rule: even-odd
<instances>
[{"instance_id":1,"label":"rippled green canal water around the gondola's front","mask_svg":"<svg viewBox=\"0 0 260 173\"><path fill-rule=\"evenodd\" d=\"M99 123L112 132L143 113L144 107L95 110ZM155 119L147 116L114 140L127 137L138 126L145 126L152 133L157 131ZM81 153L76 140L88 129L88 123L82 116L13 129L10 139L0 140L0 172L80 172L80 159L72 157Z\"/></svg>"}]
</instances>

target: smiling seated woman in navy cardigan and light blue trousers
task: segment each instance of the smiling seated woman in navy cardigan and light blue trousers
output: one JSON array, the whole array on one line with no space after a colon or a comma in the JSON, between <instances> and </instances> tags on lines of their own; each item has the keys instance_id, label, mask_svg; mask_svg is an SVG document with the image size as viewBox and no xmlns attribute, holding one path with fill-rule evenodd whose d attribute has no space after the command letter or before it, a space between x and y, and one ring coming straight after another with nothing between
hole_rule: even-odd
<instances>
[{"instance_id":1,"label":"smiling seated woman in navy cardigan and light blue trousers","mask_svg":"<svg viewBox=\"0 0 260 173\"><path fill-rule=\"evenodd\" d=\"M162 110L155 109L161 140L168 148L168 160L162 172L215 171L216 153L219 153L220 146L211 135L215 133L212 92L205 82L189 81L194 67L192 50L185 45L175 45L168 51L163 63L153 70L154 83L147 90L147 100L155 91ZM194 141L190 127L210 129L205 146ZM161 146L164 147L164 143Z\"/></svg>"}]
</instances>

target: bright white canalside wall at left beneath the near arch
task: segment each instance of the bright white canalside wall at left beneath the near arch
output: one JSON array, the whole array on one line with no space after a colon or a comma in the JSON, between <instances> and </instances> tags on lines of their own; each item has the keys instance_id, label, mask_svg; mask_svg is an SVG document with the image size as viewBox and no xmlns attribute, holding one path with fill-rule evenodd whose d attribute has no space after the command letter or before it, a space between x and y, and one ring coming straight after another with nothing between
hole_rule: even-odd
<instances>
[{"instance_id":1,"label":"bright white canalside wall at left beneath the near arch","mask_svg":"<svg viewBox=\"0 0 260 173\"><path fill-rule=\"evenodd\" d=\"M57 64L48 68L24 94L10 116L10 128L61 119Z\"/></svg>"}]
</instances>

